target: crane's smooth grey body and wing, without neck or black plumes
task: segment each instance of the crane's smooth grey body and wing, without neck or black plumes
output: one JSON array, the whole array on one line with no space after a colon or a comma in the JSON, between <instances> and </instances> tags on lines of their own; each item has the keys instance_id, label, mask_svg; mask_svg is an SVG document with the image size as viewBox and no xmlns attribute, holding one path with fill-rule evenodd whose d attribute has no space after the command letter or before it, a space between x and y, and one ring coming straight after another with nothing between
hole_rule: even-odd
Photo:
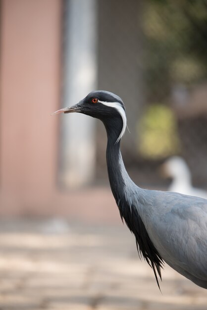
<instances>
[{"instance_id":1,"label":"crane's smooth grey body and wing, without neck or black plumes","mask_svg":"<svg viewBox=\"0 0 207 310\"><path fill-rule=\"evenodd\" d=\"M137 204L138 212L161 258L207 288L207 201L159 191L145 191L142 196L147 202Z\"/></svg>"}]
</instances>

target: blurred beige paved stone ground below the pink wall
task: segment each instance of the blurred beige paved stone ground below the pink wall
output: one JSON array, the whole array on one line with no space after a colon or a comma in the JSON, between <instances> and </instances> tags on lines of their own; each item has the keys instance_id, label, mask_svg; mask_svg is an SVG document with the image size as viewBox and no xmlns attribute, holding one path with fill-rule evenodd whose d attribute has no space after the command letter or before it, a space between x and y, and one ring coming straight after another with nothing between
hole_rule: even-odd
<instances>
[{"instance_id":1,"label":"blurred beige paved stone ground below the pink wall","mask_svg":"<svg viewBox=\"0 0 207 310\"><path fill-rule=\"evenodd\" d=\"M162 293L126 226L0 222L0 310L207 310L207 291L165 267Z\"/></svg>"}]
</instances>

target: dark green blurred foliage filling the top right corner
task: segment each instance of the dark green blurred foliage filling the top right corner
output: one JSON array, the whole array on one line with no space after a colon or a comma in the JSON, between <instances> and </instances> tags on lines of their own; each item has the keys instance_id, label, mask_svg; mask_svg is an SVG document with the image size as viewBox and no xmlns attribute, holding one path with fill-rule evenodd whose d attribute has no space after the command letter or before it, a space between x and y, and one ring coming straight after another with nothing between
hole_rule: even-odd
<instances>
[{"instance_id":1,"label":"dark green blurred foliage filling the top right corner","mask_svg":"<svg viewBox=\"0 0 207 310\"><path fill-rule=\"evenodd\" d=\"M207 79L207 1L144 2L143 74L147 101L165 102L173 84Z\"/></svg>"}]
</instances>

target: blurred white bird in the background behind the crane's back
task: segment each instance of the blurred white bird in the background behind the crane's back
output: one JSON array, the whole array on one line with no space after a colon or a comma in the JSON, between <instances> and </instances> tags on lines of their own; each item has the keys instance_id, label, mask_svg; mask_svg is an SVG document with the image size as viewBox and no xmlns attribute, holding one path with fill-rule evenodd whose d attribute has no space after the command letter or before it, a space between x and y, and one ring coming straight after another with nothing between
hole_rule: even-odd
<instances>
[{"instance_id":1,"label":"blurred white bird in the background behind the crane's back","mask_svg":"<svg viewBox=\"0 0 207 310\"><path fill-rule=\"evenodd\" d=\"M192 186L190 169L182 157L172 156L163 164L164 174L172 178L168 191L207 199L207 192Z\"/></svg>"}]
</instances>

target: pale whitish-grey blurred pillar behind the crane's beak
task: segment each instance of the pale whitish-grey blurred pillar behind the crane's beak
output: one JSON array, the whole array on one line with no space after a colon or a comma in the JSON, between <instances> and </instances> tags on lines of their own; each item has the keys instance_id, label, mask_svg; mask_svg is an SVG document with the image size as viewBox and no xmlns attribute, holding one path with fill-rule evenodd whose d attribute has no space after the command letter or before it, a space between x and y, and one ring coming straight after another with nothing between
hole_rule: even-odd
<instances>
[{"instance_id":1,"label":"pale whitish-grey blurred pillar behind the crane's beak","mask_svg":"<svg viewBox=\"0 0 207 310\"><path fill-rule=\"evenodd\" d=\"M62 107L78 103L96 89L96 0L66 0ZM90 183L95 171L94 119L62 115L59 182L65 188Z\"/></svg>"}]
</instances>

